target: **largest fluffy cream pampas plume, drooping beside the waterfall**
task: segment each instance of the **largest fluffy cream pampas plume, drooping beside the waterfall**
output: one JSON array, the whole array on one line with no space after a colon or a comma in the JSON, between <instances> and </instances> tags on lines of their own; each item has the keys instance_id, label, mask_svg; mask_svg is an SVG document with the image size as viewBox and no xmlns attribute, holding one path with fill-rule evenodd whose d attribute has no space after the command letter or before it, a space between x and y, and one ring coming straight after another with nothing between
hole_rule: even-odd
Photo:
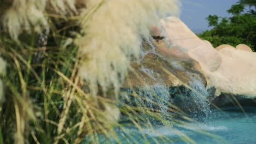
<instances>
[{"instance_id":1,"label":"largest fluffy cream pampas plume, drooping beside the waterfall","mask_svg":"<svg viewBox=\"0 0 256 144\"><path fill-rule=\"evenodd\" d=\"M131 58L139 56L142 37L149 37L149 25L159 26L159 19L166 14L177 15L179 2L89 0L86 6L96 10L91 19L82 20L85 35L77 40L83 58L79 74L89 83L92 95L97 95L98 86L103 92L114 88L117 95Z\"/></svg>"}]
</instances>

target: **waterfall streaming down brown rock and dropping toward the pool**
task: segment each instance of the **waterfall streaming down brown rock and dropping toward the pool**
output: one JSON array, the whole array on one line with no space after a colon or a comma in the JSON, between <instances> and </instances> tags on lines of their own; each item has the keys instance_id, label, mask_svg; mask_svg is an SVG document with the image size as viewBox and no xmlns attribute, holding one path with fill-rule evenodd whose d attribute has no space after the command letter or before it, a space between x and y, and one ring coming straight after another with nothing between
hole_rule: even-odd
<instances>
[{"instance_id":1,"label":"waterfall streaming down brown rock and dropping toward the pool","mask_svg":"<svg viewBox=\"0 0 256 144\"><path fill-rule=\"evenodd\" d=\"M187 83L184 82L185 85L168 86L165 83L166 79L169 79L168 75L163 76L159 73L161 65L147 65L148 60L143 63L143 58L149 53L153 53L153 56L158 57L156 60L149 59L150 63L156 61L164 64L167 63L167 66L170 67L166 69L176 79L181 79L182 82L184 79L188 79L189 81ZM168 108L172 107L171 105L176 105L190 117L198 121L206 121L207 117L211 114L210 104L207 102L210 94L207 92L200 75L194 72L195 70L192 68L193 64L190 64L187 60L177 60L172 56L166 57L161 55L157 52L156 47L150 43L150 38L148 40L146 39L142 44L139 62L142 64L137 70L139 73L143 73L139 76L146 84L123 89L130 97L129 100L126 100L127 104L138 107L146 106L151 111L158 110L164 113L164 115L168 113ZM184 63L189 63L190 65L185 65ZM151 83L148 82L148 79L150 79Z\"/></svg>"}]
</instances>

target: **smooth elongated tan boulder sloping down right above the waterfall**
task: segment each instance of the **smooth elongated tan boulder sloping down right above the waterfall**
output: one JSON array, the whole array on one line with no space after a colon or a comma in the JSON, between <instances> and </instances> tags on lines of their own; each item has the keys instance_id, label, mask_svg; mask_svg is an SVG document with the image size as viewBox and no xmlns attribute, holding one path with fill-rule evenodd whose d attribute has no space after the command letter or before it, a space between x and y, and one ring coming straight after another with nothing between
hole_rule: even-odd
<instances>
[{"instance_id":1,"label":"smooth elongated tan boulder sloping down right above the waterfall","mask_svg":"<svg viewBox=\"0 0 256 144\"><path fill-rule=\"evenodd\" d=\"M201 40L177 17L167 17L161 20L166 30L167 39L171 44L177 45L200 63L204 71L218 69L222 59L207 40Z\"/></svg>"}]
</instances>

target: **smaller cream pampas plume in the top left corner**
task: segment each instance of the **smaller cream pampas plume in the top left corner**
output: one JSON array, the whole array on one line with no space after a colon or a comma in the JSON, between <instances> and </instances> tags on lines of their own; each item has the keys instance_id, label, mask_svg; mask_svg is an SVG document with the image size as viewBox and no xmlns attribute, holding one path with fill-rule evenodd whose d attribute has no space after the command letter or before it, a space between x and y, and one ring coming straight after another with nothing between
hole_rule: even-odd
<instances>
[{"instance_id":1,"label":"smaller cream pampas plume in the top left corner","mask_svg":"<svg viewBox=\"0 0 256 144\"><path fill-rule=\"evenodd\" d=\"M21 32L31 33L31 27L37 32L48 29L48 22L43 13L45 4L45 0L13 0L10 8L1 17L2 25L10 37L18 40Z\"/></svg>"}]
</instances>

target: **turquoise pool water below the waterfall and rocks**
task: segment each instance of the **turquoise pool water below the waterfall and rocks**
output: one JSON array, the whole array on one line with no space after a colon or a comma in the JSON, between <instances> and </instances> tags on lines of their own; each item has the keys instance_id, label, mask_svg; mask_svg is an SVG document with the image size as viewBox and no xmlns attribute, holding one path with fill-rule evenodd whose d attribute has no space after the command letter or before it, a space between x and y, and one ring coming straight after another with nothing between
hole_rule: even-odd
<instances>
[{"instance_id":1,"label":"turquoise pool water below the waterfall and rocks","mask_svg":"<svg viewBox=\"0 0 256 144\"><path fill-rule=\"evenodd\" d=\"M256 143L256 107L243 109L246 113L236 107L225 107L223 111L212 110L211 116L204 119L204 122L190 122L170 127L156 126L154 130L130 127L125 133L118 131L118 135L121 143L253 144ZM130 138L127 135L130 135Z\"/></svg>"}]
</instances>

